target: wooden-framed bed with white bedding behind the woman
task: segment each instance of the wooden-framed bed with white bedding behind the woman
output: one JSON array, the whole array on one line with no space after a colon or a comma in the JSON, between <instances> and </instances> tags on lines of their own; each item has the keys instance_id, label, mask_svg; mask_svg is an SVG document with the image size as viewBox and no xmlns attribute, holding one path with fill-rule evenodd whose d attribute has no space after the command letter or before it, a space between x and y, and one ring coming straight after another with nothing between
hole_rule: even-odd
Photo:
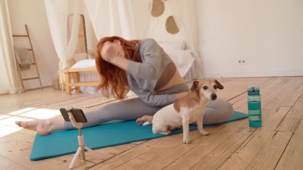
<instances>
[{"instance_id":1,"label":"wooden-framed bed with white bedding behind the woman","mask_svg":"<svg viewBox=\"0 0 303 170\"><path fill-rule=\"evenodd\" d=\"M202 62L197 51L185 49L186 45L183 40L158 43L175 63L186 82L202 79ZM95 59L78 61L70 69L64 70L64 74L67 94L99 93L95 90L95 86L99 85L100 81Z\"/></svg>"}]
</instances>

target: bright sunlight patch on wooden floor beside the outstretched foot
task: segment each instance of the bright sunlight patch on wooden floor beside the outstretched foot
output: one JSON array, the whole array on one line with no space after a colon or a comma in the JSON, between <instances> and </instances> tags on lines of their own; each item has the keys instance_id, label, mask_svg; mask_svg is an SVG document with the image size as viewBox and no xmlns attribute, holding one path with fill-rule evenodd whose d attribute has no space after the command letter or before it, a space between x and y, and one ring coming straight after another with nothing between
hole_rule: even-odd
<instances>
[{"instance_id":1,"label":"bright sunlight patch on wooden floor beside the outstretched foot","mask_svg":"<svg viewBox=\"0 0 303 170\"><path fill-rule=\"evenodd\" d=\"M27 107L0 115L0 137L12 134L22 129L15 124L15 121L49 119L60 114L60 111L57 109Z\"/></svg>"}]
</instances>

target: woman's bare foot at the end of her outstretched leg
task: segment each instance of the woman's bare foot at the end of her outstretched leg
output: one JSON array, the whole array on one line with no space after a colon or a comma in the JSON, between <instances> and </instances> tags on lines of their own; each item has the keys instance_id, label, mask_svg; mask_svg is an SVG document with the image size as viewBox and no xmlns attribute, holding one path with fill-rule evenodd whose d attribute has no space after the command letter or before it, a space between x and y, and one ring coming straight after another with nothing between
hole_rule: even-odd
<instances>
[{"instance_id":1,"label":"woman's bare foot at the end of her outstretched leg","mask_svg":"<svg viewBox=\"0 0 303 170\"><path fill-rule=\"evenodd\" d=\"M50 123L47 120L33 120L33 121L16 121L16 125L38 132L40 135L48 135L50 134Z\"/></svg>"}]
</instances>

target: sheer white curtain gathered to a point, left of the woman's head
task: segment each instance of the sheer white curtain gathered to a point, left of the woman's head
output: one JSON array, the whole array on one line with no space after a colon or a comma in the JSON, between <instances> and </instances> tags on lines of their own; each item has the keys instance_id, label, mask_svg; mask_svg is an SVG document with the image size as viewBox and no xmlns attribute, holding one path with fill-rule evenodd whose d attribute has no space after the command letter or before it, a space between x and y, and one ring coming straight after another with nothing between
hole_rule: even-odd
<instances>
[{"instance_id":1,"label":"sheer white curtain gathered to a point, left of the woman's head","mask_svg":"<svg viewBox=\"0 0 303 170\"><path fill-rule=\"evenodd\" d=\"M45 0L48 25L57 55L62 62L62 69L67 68L67 61L72 58L77 47L80 24L80 0ZM70 39L67 35L68 7L74 5L73 23Z\"/></svg>"}]
</instances>

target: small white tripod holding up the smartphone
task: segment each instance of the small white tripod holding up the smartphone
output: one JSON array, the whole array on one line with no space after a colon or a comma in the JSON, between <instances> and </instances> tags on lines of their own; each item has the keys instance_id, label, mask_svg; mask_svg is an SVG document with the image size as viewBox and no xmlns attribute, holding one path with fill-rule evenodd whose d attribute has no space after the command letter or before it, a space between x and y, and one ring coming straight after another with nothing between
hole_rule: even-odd
<instances>
[{"instance_id":1,"label":"small white tripod holding up the smartphone","mask_svg":"<svg viewBox=\"0 0 303 170\"><path fill-rule=\"evenodd\" d=\"M77 150L77 152L76 152L76 154L75 154L74 158L72 159L72 162L71 162L71 164L69 166L69 169L72 169L74 167L74 164L75 164L75 162L76 162L76 160L79 157L79 155L80 155L81 152L82 152L83 161L86 161L85 160L85 151L84 151L84 149L86 149L88 151L93 151L93 150L90 149L90 148L88 148L84 144L84 136L81 133L82 123L76 122L76 120L75 120L75 118L74 118L74 116L73 116L73 114L71 112L71 110L73 109L73 107L71 107L71 108L67 107L65 109L66 109L66 111L67 111L67 113L69 115L69 120L71 121L72 125L74 127L78 128L78 130L79 130L79 136L78 136L79 148L78 148L78 150Z\"/></svg>"}]
</instances>

